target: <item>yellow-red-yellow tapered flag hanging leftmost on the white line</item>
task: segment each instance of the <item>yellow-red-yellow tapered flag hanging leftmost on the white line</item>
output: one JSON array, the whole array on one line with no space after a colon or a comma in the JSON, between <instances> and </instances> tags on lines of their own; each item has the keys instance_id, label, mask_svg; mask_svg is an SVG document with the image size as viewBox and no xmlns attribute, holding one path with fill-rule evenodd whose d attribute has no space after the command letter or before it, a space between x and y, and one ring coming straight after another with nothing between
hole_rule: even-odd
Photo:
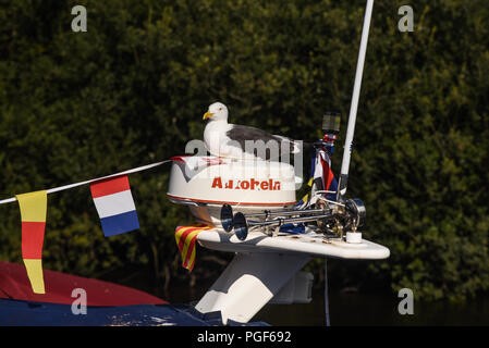
<instances>
[{"instance_id":1,"label":"yellow-red-yellow tapered flag hanging leftmost on the white line","mask_svg":"<svg viewBox=\"0 0 489 348\"><path fill-rule=\"evenodd\" d=\"M42 243L48 195L46 190L16 195L22 220L22 259L35 294L46 294L42 277Z\"/></svg>"}]
</instances>

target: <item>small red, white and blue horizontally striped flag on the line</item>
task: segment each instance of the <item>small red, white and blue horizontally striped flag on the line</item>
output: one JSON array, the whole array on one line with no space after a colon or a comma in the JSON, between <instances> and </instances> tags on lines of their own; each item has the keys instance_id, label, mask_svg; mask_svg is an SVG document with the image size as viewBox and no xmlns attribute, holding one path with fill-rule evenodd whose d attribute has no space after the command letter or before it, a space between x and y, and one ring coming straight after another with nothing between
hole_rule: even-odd
<instances>
[{"instance_id":1,"label":"small red, white and blue horizontally striped flag on the line","mask_svg":"<svg viewBox=\"0 0 489 348\"><path fill-rule=\"evenodd\" d=\"M139 228L126 175L95 182L90 190L106 237Z\"/></svg>"}]
</instances>

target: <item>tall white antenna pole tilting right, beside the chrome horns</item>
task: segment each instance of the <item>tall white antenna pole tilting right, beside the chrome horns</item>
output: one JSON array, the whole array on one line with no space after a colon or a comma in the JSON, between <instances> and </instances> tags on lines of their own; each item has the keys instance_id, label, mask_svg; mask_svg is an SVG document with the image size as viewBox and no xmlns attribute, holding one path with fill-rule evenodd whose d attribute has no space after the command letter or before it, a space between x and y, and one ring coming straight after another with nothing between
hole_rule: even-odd
<instances>
[{"instance_id":1,"label":"tall white antenna pole tilting right, beside the chrome horns","mask_svg":"<svg viewBox=\"0 0 489 348\"><path fill-rule=\"evenodd\" d=\"M362 41L358 52L358 61L356 63L355 85L353 86L352 104L350 105L349 126L346 128L346 138L343 149L343 161L341 163L341 174L338 185L337 199L346 194L346 185L349 181L350 159L352 154L353 134L355 133L356 111L358 109L358 98L360 94L362 76L364 74L365 54L367 52L368 32L370 29L371 10L374 0L367 0L365 9L364 28L362 30Z\"/></svg>"}]
</instances>

